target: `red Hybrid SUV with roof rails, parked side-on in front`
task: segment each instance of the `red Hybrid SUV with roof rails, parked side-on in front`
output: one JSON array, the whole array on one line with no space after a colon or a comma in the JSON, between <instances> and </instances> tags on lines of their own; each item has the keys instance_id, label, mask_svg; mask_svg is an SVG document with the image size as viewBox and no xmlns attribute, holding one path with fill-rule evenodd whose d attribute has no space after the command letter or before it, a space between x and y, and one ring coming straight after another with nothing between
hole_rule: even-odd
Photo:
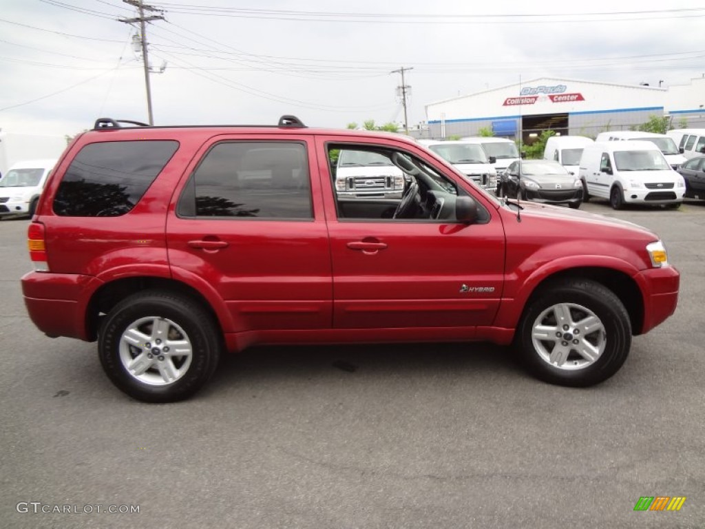
<instances>
[{"instance_id":1,"label":"red Hybrid SUV with roof rails, parked side-on in front","mask_svg":"<svg viewBox=\"0 0 705 529\"><path fill-rule=\"evenodd\" d=\"M337 160L403 172L398 196L338 200ZM588 386L673 314L658 236L498 199L401 135L100 119L67 148L28 230L27 310L98 342L142 401L202 387L258 343L515 343L537 377Z\"/></svg>"}]
</instances>

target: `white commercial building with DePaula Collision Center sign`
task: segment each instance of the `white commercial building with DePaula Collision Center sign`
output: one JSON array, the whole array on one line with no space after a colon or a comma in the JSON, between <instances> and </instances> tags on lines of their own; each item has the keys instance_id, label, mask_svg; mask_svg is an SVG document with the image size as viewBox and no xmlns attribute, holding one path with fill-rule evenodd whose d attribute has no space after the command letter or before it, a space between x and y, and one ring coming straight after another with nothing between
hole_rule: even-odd
<instances>
[{"instance_id":1,"label":"white commercial building with DePaula Collision Center sign","mask_svg":"<svg viewBox=\"0 0 705 529\"><path fill-rule=\"evenodd\" d=\"M538 78L431 103L426 115L431 138L486 128L531 142L542 130L594 137L635 129L651 116L669 116L673 128L705 127L704 105L705 76L670 87Z\"/></svg>"}]
</instances>

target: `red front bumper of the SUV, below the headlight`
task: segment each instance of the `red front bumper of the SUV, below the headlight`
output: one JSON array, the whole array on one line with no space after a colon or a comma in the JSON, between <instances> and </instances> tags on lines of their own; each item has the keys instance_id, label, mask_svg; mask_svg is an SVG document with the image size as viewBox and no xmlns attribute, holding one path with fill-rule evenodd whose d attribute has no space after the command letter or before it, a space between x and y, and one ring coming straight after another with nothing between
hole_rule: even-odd
<instances>
[{"instance_id":1,"label":"red front bumper of the SUV, below the headlight","mask_svg":"<svg viewBox=\"0 0 705 529\"><path fill-rule=\"evenodd\" d=\"M644 293L644 324L638 334L644 334L675 312L680 274L674 267L651 268L639 272L637 281Z\"/></svg>"}]
</instances>

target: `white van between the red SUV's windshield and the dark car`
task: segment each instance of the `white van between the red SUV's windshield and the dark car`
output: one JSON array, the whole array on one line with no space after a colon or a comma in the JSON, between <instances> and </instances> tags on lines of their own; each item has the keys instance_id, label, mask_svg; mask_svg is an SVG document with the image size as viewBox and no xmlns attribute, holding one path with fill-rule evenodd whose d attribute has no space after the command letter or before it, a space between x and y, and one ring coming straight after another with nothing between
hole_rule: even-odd
<instances>
[{"instance_id":1,"label":"white van between the red SUV's windshield and the dark car","mask_svg":"<svg viewBox=\"0 0 705 529\"><path fill-rule=\"evenodd\" d=\"M497 171L490 164L482 145L460 141L419 140L427 149L453 164L468 180L479 187L494 191Z\"/></svg>"}]
</instances>

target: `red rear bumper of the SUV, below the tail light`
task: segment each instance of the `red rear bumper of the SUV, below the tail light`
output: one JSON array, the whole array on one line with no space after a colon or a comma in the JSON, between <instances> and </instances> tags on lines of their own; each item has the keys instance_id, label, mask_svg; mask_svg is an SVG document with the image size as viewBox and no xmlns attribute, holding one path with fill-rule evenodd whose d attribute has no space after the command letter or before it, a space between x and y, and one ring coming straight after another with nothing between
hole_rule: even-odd
<instances>
[{"instance_id":1,"label":"red rear bumper of the SUV, below the tail light","mask_svg":"<svg viewBox=\"0 0 705 529\"><path fill-rule=\"evenodd\" d=\"M91 341L86 308L89 293L101 284L94 276L29 272L22 293L30 319L44 334Z\"/></svg>"}]
</instances>

